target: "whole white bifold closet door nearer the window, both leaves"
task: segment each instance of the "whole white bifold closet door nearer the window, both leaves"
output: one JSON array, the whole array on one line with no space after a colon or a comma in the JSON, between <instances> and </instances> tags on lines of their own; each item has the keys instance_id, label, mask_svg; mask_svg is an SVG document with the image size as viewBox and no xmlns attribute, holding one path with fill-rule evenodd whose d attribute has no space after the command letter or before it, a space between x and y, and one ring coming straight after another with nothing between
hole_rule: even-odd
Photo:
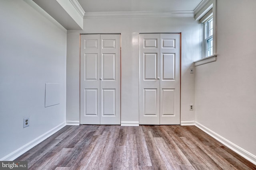
<instances>
[{"instance_id":1,"label":"whole white bifold closet door nearer the window, both leaves","mask_svg":"<svg viewBox=\"0 0 256 170\"><path fill-rule=\"evenodd\" d=\"M139 122L180 124L180 34L140 34Z\"/></svg>"}]
</instances>

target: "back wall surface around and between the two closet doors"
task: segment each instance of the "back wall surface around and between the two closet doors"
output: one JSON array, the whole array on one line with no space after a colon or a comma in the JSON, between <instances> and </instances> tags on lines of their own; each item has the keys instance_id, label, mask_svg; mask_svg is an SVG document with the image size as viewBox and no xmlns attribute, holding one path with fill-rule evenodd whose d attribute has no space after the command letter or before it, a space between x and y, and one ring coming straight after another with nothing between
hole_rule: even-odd
<instances>
[{"instance_id":1,"label":"back wall surface around and between the two closet doors","mask_svg":"<svg viewBox=\"0 0 256 170\"><path fill-rule=\"evenodd\" d=\"M194 18L84 19L84 30L67 34L67 121L79 121L79 34L121 33L121 122L139 121L139 33L182 33L181 120L194 121L194 74L189 68L200 55L200 25Z\"/></svg>"}]
</instances>

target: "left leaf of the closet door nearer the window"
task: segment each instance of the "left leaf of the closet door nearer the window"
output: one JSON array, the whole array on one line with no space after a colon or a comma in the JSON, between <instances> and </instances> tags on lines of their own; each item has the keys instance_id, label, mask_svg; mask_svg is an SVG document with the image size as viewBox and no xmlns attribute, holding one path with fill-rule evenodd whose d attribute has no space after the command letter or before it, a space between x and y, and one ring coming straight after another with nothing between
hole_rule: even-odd
<instances>
[{"instance_id":1,"label":"left leaf of the closet door nearer the window","mask_svg":"<svg viewBox=\"0 0 256 170\"><path fill-rule=\"evenodd\" d=\"M160 34L140 34L140 124L160 124Z\"/></svg>"}]
</instances>

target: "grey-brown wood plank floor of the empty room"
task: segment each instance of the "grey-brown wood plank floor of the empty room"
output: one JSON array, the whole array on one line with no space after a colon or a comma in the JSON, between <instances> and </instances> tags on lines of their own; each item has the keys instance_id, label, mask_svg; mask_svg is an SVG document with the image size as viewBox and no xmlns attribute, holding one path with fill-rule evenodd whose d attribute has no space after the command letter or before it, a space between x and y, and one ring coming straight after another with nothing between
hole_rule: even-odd
<instances>
[{"instance_id":1,"label":"grey-brown wood plank floor of the empty room","mask_svg":"<svg viewBox=\"0 0 256 170\"><path fill-rule=\"evenodd\" d=\"M195 126L66 126L16 160L30 170L256 170Z\"/></svg>"}]
</instances>

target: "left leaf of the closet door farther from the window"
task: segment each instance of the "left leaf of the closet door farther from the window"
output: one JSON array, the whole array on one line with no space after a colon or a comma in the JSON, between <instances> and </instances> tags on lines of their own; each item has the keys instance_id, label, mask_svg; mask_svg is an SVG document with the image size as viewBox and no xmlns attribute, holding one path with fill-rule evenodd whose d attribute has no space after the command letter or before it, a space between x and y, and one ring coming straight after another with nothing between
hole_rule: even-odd
<instances>
[{"instance_id":1,"label":"left leaf of the closet door farther from the window","mask_svg":"<svg viewBox=\"0 0 256 170\"><path fill-rule=\"evenodd\" d=\"M81 35L80 123L100 124L100 34Z\"/></svg>"}]
</instances>

